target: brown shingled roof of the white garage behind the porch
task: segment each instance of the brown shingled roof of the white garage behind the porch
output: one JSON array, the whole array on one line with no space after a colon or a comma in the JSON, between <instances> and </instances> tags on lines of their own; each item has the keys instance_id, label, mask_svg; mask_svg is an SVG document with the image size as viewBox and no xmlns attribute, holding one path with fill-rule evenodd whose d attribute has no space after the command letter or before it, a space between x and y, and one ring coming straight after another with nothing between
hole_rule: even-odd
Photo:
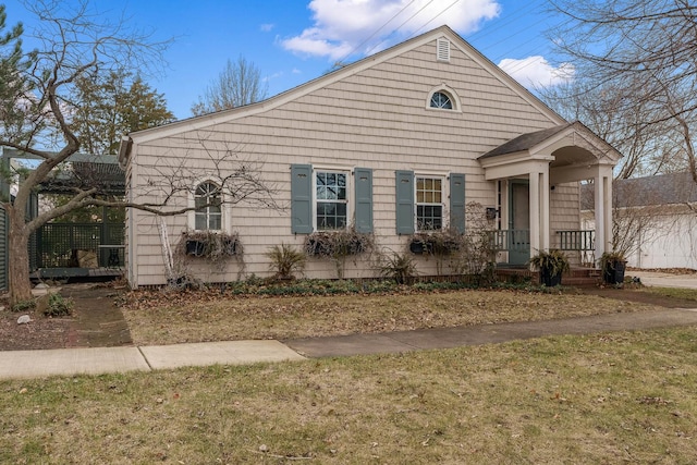
<instances>
[{"instance_id":1,"label":"brown shingled roof of the white garage behind the porch","mask_svg":"<svg viewBox=\"0 0 697 465\"><path fill-rule=\"evenodd\" d=\"M697 203L697 183L687 171L615 180L612 183L612 200L613 206L619 208ZM582 185L580 209L592 210L594 204L594 185Z\"/></svg>"}]
</instances>

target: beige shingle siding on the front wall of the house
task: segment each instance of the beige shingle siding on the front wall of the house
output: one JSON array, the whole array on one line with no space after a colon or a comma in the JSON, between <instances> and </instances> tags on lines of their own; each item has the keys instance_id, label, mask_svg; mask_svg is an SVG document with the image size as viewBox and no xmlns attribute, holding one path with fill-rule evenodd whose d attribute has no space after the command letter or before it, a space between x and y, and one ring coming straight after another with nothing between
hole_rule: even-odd
<instances>
[{"instance_id":1,"label":"beige shingle siding on the front wall of the house","mask_svg":"<svg viewBox=\"0 0 697 465\"><path fill-rule=\"evenodd\" d=\"M148 182L157 184L163 175L175 172L189 178L193 185L193 179L212 170L215 159L225 150L260 163L264 180L274 186L274 198L283 209L246 204L232 207L228 229L240 233L244 266L232 260L224 272L211 272L197 268L200 264L195 260L188 264L192 270L198 269L201 279L234 280L252 273L270 274L265 256L268 248L281 243L299 247L305 240L291 234L291 163L371 168L376 242L383 252L402 252L407 238L395 234L395 170L466 173L467 201L493 206L496 184L484 180L477 157L516 135L557 124L460 49L453 47L451 52L450 63L437 62L433 39L267 111L136 145L132 156L137 166L133 170L134 176L137 172L134 195L140 201L161 200L162 195ZM427 108L429 93L441 84L458 95L461 112ZM187 201L187 196L181 195L173 208ZM577 192L560 186L552 196L553 210L565 211L572 204L577 210ZM552 229L566 228L572 221L578 224L577 216L572 219L565 215L553 213ZM139 211L131 217L134 257L130 265L135 267L137 284L162 284L166 277L158 220ZM174 246L187 229L186 216L169 217L167 224ZM424 271L433 270L433 259L421 261ZM346 277L372 274L369 257L346 261ZM335 267L310 259L306 276L335 277Z\"/></svg>"}]
</instances>

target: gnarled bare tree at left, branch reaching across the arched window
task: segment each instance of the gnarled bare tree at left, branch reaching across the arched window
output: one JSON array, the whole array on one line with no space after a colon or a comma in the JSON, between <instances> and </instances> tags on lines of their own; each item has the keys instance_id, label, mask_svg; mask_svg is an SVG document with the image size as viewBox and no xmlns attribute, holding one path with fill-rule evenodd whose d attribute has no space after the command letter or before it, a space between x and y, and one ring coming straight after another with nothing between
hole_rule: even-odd
<instances>
[{"instance_id":1,"label":"gnarled bare tree at left, branch reaching across the arched window","mask_svg":"<svg viewBox=\"0 0 697 465\"><path fill-rule=\"evenodd\" d=\"M40 212L35 218L25 218L32 193L48 181L64 162L70 161L70 157L81 148L82 140L71 124L73 113L70 110L70 96L74 95L77 79L84 76L103 79L110 73L124 68L137 69L143 74L151 70L148 68L150 64L162 62L161 52L168 45L152 41L148 34L130 29L124 22L99 22L99 16L93 14L85 2L73 8L72 4L66 5L60 1L39 0L27 2L26 8L39 20L39 26L34 32L39 47L23 54L25 64L20 65L15 61L13 66L15 82L21 85L14 86L13 93L3 95L2 108L10 109L4 110L3 115L9 113L13 118L3 117L0 145L34 156L40 162L20 182L16 196L3 200L10 221L11 304L32 298L27 242L32 232L52 219L89 205L125 206L156 215L176 215L193 209L163 208L185 188L186 183L182 181L181 171L179 176L178 173L164 176L169 180L168 186L152 186L161 189L161 201L150 205L109 201L100 197L103 180L98 175L90 175L89 172L81 172L76 176L78 182L70 187L72 197L69 201ZM1 45L0 52L3 52ZM3 63L7 61L4 54L0 54L0 59ZM15 114L21 114L22 118L14 118ZM217 151L219 160L229 156L229 151ZM213 172L220 168L221 162L213 163ZM229 167L228 170L232 171L232 174L229 171L220 171L224 178L221 185L235 183L235 186L245 186L245 183L254 183L254 180L261 183L259 178L255 178L257 174L252 172L253 167L244 161ZM256 187L253 191L264 191L264 186L258 189ZM245 201L253 195L245 195L244 187L239 188L240 192L231 192L235 194L231 197L234 201Z\"/></svg>"}]
</instances>

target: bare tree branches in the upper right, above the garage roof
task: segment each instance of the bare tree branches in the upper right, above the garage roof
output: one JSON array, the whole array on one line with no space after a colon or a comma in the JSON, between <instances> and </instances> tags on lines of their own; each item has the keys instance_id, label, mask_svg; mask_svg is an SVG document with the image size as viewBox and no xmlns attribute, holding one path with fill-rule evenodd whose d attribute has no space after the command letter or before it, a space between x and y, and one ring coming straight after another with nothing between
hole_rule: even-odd
<instances>
[{"instance_id":1,"label":"bare tree branches in the upper right, above the garage roof","mask_svg":"<svg viewBox=\"0 0 697 465\"><path fill-rule=\"evenodd\" d=\"M580 76L562 97L582 102L582 121L627 155L620 178L689 169L697 181L697 7L550 3L566 20L551 30L554 44Z\"/></svg>"}]
</instances>

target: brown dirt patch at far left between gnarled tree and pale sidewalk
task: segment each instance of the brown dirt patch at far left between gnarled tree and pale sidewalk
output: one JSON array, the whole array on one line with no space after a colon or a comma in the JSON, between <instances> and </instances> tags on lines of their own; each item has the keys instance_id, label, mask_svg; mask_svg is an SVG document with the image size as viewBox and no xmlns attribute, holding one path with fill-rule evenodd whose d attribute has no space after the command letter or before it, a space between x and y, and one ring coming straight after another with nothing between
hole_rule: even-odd
<instances>
[{"instance_id":1,"label":"brown dirt patch at far left between gnarled tree and pale sidewalk","mask_svg":"<svg viewBox=\"0 0 697 465\"><path fill-rule=\"evenodd\" d=\"M0 311L0 351L132 345L131 332L114 304L120 291L95 284L68 284L60 294L74 301L73 315L47 318L39 311ZM32 321L17 325L21 315Z\"/></svg>"}]
</instances>

